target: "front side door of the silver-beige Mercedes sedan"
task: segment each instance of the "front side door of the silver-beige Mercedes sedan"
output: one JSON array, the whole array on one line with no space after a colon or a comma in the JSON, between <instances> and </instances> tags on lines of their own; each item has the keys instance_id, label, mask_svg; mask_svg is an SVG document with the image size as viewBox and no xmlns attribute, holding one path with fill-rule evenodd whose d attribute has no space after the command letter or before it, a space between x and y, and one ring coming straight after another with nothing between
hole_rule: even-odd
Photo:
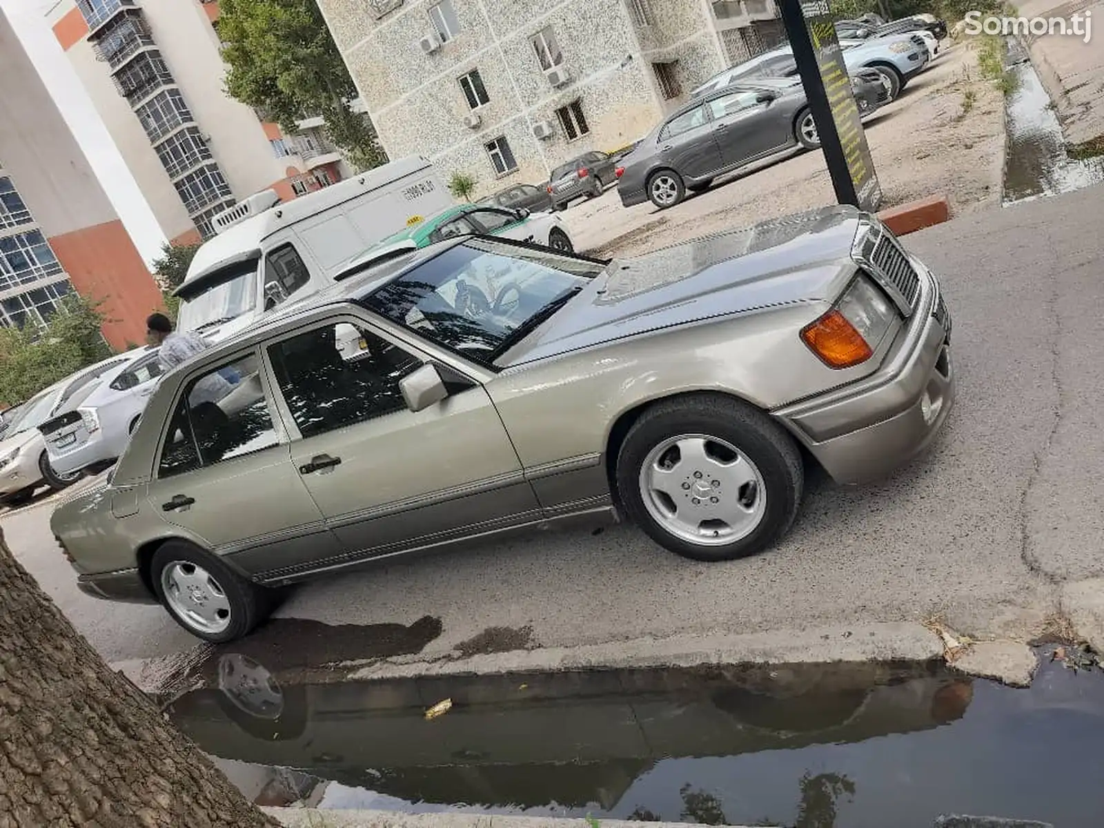
<instances>
[{"instance_id":1,"label":"front side door of the silver-beige Mercedes sedan","mask_svg":"<svg viewBox=\"0 0 1104 828\"><path fill-rule=\"evenodd\" d=\"M367 347L343 360L332 338L347 323ZM266 359L293 429L293 465L344 560L538 518L537 496L478 382L442 365L449 395L411 411L400 381L428 355L351 316L283 337Z\"/></svg>"}]
</instances>

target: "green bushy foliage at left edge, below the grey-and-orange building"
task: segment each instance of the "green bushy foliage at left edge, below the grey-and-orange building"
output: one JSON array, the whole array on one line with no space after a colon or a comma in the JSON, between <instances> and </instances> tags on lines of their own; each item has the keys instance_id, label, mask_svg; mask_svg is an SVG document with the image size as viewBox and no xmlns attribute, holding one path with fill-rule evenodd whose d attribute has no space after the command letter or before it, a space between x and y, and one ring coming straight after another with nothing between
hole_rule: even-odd
<instances>
[{"instance_id":1,"label":"green bushy foliage at left edge, below the grey-and-orange building","mask_svg":"<svg viewBox=\"0 0 1104 828\"><path fill-rule=\"evenodd\" d=\"M0 402L18 405L112 354L96 304L75 294L45 326L0 328Z\"/></svg>"}]
</instances>

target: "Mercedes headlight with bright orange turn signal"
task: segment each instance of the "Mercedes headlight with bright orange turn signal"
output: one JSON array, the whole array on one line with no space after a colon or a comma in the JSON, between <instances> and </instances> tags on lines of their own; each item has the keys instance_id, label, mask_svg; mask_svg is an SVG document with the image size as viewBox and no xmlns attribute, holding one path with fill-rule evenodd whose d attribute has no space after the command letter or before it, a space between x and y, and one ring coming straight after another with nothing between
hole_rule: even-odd
<instances>
[{"instance_id":1,"label":"Mercedes headlight with bright orange turn signal","mask_svg":"<svg viewBox=\"0 0 1104 828\"><path fill-rule=\"evenodd\" d=\"M851 368L874 355L896 315L889 297L860 275L827 314L802 330L802 339L828 368Z\"/></svg>"}]
</instances>

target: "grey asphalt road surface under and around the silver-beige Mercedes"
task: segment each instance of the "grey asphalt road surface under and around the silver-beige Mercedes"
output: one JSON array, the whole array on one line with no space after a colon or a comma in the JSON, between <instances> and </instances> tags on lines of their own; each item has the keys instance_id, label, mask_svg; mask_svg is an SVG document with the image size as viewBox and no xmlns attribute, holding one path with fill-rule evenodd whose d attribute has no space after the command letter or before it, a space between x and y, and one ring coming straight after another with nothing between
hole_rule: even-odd
<instances>
[{"instance_id":1,"label":"grey asphalt road surface under and around the silver-beige Mercedes","mask_svg":"<svg viewBox=\"0 0 1104 828\"><path fill-rule=\"evenodd\" d=\"M1029 636L1058 609L1063 581L1104 574L1102 212L1097 187L906 238L943 275L958 404L933 450L893 479L859 489L814 480L773 551L703 564L628 527L534 533L305 585L268 638L325 637L295 618L432 616L439 635L423 622L433 633L417 647L434 658L459 645L571 648L718 630L783 641L810 627L936 614L974 635ZM8 542L105 658L193 646L156 607L77 593L49 514L43 502L2 516Z\"/></svg>"}]
</instances>

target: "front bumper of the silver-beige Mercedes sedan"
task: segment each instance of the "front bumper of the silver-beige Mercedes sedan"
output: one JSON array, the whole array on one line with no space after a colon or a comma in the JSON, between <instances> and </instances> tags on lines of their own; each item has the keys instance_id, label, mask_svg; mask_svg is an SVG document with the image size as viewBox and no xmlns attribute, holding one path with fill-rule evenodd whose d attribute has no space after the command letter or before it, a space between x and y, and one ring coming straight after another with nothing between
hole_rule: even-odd
<instances>
[{"instance_id":1,"label":"front bumper of the silver-beige Mercedes sedan","mask_svg":"<svg viewBox=\"0 0 1104 828\"><path fill-rule=\"evenodd\" d=\"M903 466L935 439L954 406L951 317L935 277L915 258L913 265L922 298L887 364L853 385L775 412L837 482L864 482Z\"/></svg>"}]
</instances>

